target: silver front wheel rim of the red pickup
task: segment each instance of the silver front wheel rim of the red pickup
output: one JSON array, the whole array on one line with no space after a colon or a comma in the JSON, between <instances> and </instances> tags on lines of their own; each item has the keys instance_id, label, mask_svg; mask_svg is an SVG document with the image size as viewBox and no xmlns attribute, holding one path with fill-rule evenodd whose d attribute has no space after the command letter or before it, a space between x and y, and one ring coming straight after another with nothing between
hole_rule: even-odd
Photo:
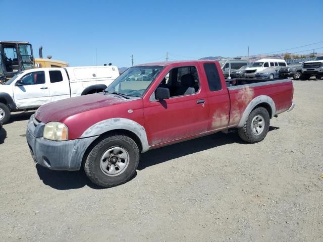
<instances>
[{"instance_id":1,"label":"silver front wheel rim of the red pickup","mask_svg":"<svg viewBox=\"0 0 323 242\"><path fill-rule=\"evenodd\" d=\"M107 176L123 173L129 164L128 151L120 146L107 149L100 158L101 171Z\"/></svg>"}]
</instances>

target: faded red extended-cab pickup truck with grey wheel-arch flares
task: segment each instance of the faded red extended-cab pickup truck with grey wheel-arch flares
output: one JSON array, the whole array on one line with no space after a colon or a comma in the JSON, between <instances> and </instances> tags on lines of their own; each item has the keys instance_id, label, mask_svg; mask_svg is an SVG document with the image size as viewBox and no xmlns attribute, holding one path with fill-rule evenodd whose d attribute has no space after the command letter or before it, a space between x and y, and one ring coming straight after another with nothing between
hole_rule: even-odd
<instances>
[{"instance_id":1,"label":"faded red extended-cab pickup truck with grey wheel-arch flares","mask_svg":"<svg viewBox=\"0 0 323 242\"><path fill-rule=\"evenodd\" d=\"M218 62L131 67L102 93L45 104L30 117L34 161L54 170L84 167L93 183L112 187L135 173L149 149L238 129L264 139L270 119L294 107L289 79L232 79Z\"/></svg>"}]
</instances>

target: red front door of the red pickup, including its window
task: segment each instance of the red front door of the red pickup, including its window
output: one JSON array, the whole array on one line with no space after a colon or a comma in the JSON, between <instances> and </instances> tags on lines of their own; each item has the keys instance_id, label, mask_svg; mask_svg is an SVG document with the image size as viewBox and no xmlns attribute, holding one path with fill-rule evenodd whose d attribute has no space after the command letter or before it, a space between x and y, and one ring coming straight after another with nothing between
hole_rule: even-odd
<instances>
[{"instance_id":1,"label":"red front door of the red pickup, including its window","mask_svg":"<svg viewBox=\"0 0 323 242\"><path fill-rule=\"evenodd\" d=\"M206 132L208 104L197 67L172 69L158 87L169 88L171 97L144 102L144 122L150 146Z\"/></svg>"}]
</instances>

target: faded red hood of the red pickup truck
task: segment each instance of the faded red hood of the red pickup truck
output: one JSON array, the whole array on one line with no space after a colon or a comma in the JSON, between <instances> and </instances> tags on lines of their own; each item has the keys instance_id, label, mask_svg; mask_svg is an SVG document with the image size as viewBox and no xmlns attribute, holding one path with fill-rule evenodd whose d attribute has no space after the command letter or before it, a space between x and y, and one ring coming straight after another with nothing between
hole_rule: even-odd
<instances>
[{"instance_id":1,"label":"faded red hood of the red pickup truck","mask_svg":"<svg viewBox=\"0 0 323 242\"><path fill-rule=\"evenodd\" d=\"M124 99L113 94L89 94L42 105L38 108L35 117L45 124L50 121L64 122L66 118L75 114L127 101L131 99Z\"/></svg>"}]
</instances>

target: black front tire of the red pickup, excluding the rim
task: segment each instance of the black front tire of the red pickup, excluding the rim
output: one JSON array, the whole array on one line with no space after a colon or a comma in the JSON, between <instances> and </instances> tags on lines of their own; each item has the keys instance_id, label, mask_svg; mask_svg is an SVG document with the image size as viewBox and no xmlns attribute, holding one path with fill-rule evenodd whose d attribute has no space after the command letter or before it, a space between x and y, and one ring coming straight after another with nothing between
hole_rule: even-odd
<instances>
[{"instance_id":1,"label":"black front tire of the red pickup, excluding the rim","mask_svg":"<svg viewBox=\"0 0 323 242\"><path fill-rule=\"evenodd\" d=\"M128 164L119 175L109 176L104 173L101 168L101 157L109 149L114 149L116 147L121 147L127 152L127 155L129 156ZM103 137L94 144L94 147L89 152L84 163L84 171L94 184L110 188L124 184L130 180L135 174L138 164L139 149L137 144L127 136L115 135ZM115 167L117 168L117 165ZM108 167L106 169L108 169ZM109 172L109 170L105 171Z\"/></svg>"}]
</instances>

